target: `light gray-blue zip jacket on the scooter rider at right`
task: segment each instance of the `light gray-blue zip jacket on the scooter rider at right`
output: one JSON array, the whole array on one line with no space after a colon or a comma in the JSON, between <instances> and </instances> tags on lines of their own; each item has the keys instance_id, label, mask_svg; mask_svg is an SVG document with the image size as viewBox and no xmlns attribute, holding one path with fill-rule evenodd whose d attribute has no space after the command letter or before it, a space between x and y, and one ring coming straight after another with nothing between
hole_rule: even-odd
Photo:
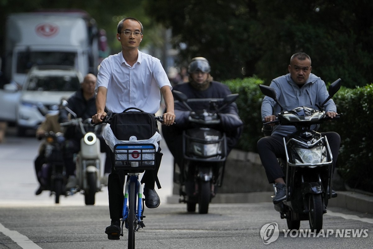
<instances>
[{"instance_id":1,"label":"light gray-blue zip jacket on the scooter rider at right","mask_svg":"<svg viewBox=\"0 0 373 249\"><path fill-rule=\"evenodd\" d=\"M325 82L314 74L310 74L307 82L301 88L292 80L290 74L275 78L272 80L270 87L275 89L276 97L283 106L284 111L290 111L298 106L318 109L316 103L321 105L329 96ZM325 111L337 112L336 105L332 99L326 102ZM279 112L280 106L273 99L265 96L261 104L262 119L269 115L278 116ZM295 130L295 127L291 125L276 125L273 128L272 135L276 134L285 137L295 132Z\"/></svg>"}]
</instances>

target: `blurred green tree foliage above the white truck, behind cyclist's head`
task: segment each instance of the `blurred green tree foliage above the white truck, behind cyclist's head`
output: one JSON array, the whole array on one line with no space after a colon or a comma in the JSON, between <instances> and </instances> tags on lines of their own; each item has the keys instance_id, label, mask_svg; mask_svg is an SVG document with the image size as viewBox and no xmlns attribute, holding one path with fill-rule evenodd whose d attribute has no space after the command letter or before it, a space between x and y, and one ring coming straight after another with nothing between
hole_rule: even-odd
<instances>
[{"instance_id":1,"label":"blurred green tree foliage above the white truck, behind cyclist's head","mask_svg":"<svg viewBox=\"0 0 373 249\"><path fill-rule=\"evenodd\" d=\"M144 36L142 46L163 46L164 38L159 29L159 24L151 21L145 14L143 7L144 0L138 1L100 1L100 0L0 0L0 53L4 51L4 34L6 17L10 13L32 12L42 9L80 9L85 10L95 19L99 29L106 31L107 42L111 54L120 51L120 43L116 40L116 27L118 22L127 16L133 16L140 19L147 35Z\"/></svg>"}]
</instances>

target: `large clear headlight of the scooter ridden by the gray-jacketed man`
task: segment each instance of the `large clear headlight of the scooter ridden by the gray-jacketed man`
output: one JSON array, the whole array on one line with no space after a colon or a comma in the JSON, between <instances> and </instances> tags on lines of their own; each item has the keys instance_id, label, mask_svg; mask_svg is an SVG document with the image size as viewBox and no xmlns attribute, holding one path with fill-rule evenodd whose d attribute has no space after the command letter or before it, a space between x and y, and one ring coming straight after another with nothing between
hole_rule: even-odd
<instances>
[{"instance_id":1,"label":"large clear headlight of the scooter ridden by the gray-jacketed man","mask_svg":"<svg viewBox=\"0 0 373 249\"><path fill-rule=\"evenodd\" d=\"M318 146L311 149L295 147L299 158L295 158L296 163L300 164L318 164L320 162L326 162L326 148L325 146ZM299 159L301 159L301 162Z\"/></svg>"}]
</instances>

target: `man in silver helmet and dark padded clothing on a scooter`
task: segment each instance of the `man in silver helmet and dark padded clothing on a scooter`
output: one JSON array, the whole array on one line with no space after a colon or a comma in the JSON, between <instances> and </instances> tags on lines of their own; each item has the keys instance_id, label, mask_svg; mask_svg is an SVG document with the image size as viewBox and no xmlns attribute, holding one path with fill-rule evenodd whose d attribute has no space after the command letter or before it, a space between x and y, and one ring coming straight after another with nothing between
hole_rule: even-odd
<instances>
[{"instance_id":1,"label":"man in silver helmet and dark padded clothing on a scooter","mask_svg":"<svg viewBox=\"0 0 373 249\"><path fill-rule=\"evenodd\" d=\"M204 57L195 57L188 66L189 81L179 83L173 87L173 91L184 93L188 100L188 105L192 110L211 109L211 99L223 99L232 94L227 85L214 81L210 75L210 64ZM182 132L189 128L188 117L190 111L181 103L175 102L175 124L172 126L163 126L163 137L167 146L175 158L176 163L182 167ZM222 131L226 133L227 155L238 141L241 135L243 122L238 116L236 103L229 104L222 113L219 113L222 121Z\"/></svg>"}]
</instances>

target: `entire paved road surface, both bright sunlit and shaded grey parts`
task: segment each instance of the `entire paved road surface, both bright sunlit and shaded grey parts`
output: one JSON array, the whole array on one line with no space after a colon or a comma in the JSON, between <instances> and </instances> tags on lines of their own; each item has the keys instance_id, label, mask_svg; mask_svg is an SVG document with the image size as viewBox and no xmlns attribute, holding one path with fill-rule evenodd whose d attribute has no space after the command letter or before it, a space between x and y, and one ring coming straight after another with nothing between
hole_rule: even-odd
<instances>
[{"instance_id":1,"label":"entire paved road surface, both bright sunlit and shaded grey parts","mask_svg":"<svg viewBox=\"0 0 373 249\"><path fill-rule=\"evenodd\" d=\"M126 237L110 241L104 234L109 225L106 187L97 194L94 206L85 206L81 194L62 198L59 205L47 192L34 195L32 161L39 143L32 137L8 136L0 144L0 249L126 248ZM206 215L187 213L185 204L166 204L172 192L172 159L164 145L163 153L162 204L145 209L146 227L136 235L136 248L372 248L373 215L343 208L328 208L324 215L325 234L333 234L299 237L295 231L291 236L287 233L286 221L270 202L211 204ZM278 224L278 239L265 245L269 240L263 242L261 228L273 222ZM302 221L301 229L308 228L308 222ZM335 237L337 232L343 236ZM360 237L353 237L356 232ZM275 239L275 235L264 238Z\"/></svg>"}]
</instances>

